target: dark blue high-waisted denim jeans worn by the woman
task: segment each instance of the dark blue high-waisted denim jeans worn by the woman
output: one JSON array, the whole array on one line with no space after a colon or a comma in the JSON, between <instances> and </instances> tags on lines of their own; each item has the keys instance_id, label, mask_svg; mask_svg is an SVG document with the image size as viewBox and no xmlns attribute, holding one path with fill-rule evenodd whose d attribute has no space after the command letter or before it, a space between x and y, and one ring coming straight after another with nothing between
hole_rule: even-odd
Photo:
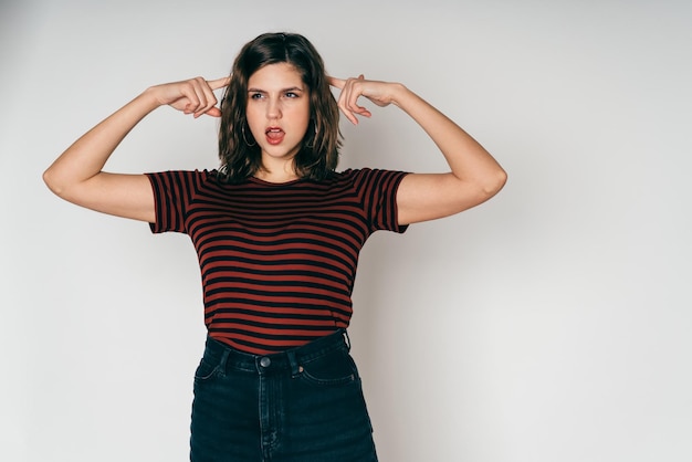
<instances>
[{"instance_id":1,"label":"dark blue high-waisted denim jeans worn by the woman","mask_svg":"<svg viewBox=\"0 0 692 462\"><path fill-rule=\"evenodd\" d=\"M195 374L192 462L374 462L344 330L254 356L212 338Z\"/></svg>"}]
</instances>

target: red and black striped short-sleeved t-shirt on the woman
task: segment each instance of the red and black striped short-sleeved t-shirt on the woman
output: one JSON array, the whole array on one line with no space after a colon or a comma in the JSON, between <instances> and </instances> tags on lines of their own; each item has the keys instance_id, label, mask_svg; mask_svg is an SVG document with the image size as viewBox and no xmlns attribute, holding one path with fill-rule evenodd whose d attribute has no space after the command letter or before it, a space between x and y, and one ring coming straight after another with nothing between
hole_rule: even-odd
<instances>
[{"instance_id":1,"label":"red and black striped short-sleeved t-shirt on the woman","mask_svg":"<svg viewBox=\"0 0 692 462\"><path fill-rule=\"evenodd\" d=\"M323 181L240 185L216 170L147 174L153 232L187 233L199 259L209 336L268 354L348 326L358 253L397 223L401 171L349 169Z\"/></svg>"}]
</instances>

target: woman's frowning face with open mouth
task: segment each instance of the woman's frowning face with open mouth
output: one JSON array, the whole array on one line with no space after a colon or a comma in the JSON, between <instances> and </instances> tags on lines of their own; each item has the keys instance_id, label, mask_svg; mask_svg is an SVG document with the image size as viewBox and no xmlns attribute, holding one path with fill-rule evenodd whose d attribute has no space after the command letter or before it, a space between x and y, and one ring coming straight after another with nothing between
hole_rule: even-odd
<instances>
[{"instance_id":1,"label":"woman's frowning face with open mouth","mask_svg":"<svg viewBox=\"0 0 692 462\"><path fill-rule=\"evenodd\" d=\"M310 125L310 91L289 63L268 64L248 81L248 125L262 165L284 168L301 149Z\"/></svg>"}]
</instances>

